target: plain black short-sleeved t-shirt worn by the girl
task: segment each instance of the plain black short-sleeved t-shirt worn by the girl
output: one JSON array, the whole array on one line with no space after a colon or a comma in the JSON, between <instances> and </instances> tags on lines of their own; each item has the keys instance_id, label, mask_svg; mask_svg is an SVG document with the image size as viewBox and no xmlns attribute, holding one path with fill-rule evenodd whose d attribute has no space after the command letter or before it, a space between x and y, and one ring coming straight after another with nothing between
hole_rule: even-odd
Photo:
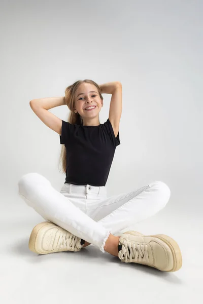
<instances>
[{"instance_id":1,"label":"plain black short-sleeved t-shirt worn by the girl","mask_svg":"<svg viewBox=\"0 0 203 304\"><path fill-rule=\"evenodd\" d=\"M60 144L66 148L64 183L105 186L117 145L119 132L114 135L108 119L98 126L70 124L62 120Z\"/></svg>"}]
</instances>

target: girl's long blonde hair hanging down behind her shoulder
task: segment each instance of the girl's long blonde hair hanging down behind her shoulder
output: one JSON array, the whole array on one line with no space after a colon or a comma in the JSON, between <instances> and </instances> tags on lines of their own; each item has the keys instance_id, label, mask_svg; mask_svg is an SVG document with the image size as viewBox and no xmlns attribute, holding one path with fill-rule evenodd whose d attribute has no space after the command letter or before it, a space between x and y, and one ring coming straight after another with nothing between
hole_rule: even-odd
<instances>
[{"instance_id":1,"label":"girl's long blonde hair hanging down behind her shoulder","mask_svg":"<svg viewBox=\"0 0 203 304\"><path fill-rule=\"evenodd\" d=\"M95 83L93 80L90 79L85 79L85 80L78 80L76 81L73 85L67 87L65 89L65 104L67 107L70 109L69 117L67 119L67 122L70 124L77 124L77 125L83 125L83 119L80 116L80 114L77 112L74 112L74 107L75 107L75 101L76 101L76 91L80 84L82 83L89 83L94 85L97 90L100 98L103 100L103 96L101 95L101 90L100 87L98 86L97 83ZM62 168L62 173L66 172L66 148L64 144L61 145L61 152L60 152L60 158L59 158L59 165L61 165ZM59 171L61 170L59 169Z\"/></svg>"}]
</instances>

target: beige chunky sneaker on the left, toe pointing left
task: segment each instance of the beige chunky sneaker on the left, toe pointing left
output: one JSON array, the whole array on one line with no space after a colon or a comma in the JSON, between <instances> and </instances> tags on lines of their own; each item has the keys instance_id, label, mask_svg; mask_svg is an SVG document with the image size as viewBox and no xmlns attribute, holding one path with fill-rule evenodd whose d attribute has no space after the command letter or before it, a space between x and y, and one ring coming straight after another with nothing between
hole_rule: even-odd
<instances>
[{"instance_id":1,"label":"beige chunky sneaker on the left, toe pointing left","mask_svg":"<svg viewBox=\"0 0 203 304\"><path fill-rule=\"evenodd\" d=\"M80 251L81 239L56 224L45 221L33 227L29 237L29 249L47 254L61 251Z\"/></svg>"}]
</instances>

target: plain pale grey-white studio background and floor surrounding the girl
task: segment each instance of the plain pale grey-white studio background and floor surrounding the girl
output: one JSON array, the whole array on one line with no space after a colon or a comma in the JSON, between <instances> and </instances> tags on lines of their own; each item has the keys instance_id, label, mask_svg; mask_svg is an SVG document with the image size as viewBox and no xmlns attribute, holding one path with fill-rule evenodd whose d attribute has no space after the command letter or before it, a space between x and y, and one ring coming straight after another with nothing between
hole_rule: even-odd
<instances>
[{"instance_id":1,"label":"plain pale grey-white studio background and floor surrounding the girl","mask_svg":"<svg viewBox=\"0 0 203 304\"><path fill-rule=\"evenodd\" d=\"M189 303L200 294L202 10L201 1L1 3L4 303L22 303L30 292L31 303L45 299L54 303L59 298L63 303L67 298L93 303L98 293L98 303L105 297L108 303L111 299L121 303L135 296L141 300L146 288L150 292L144 303L163 298L171 303L173 297L175 303ZM170 187L166 207L130 229L174 238L183 256L177 273L120 265L93 245L75 256L69 252L38 256L28 249L33 226L45 220L18 197L18 180L38 172L58 191L65 181L59 171L59 135L35 115L29 101L64 96L67 86L84 79L122 83L121 144L106 184L108 193L129 192L153 180ZM111 95L103 97L100 123L108 119L111 100ZM66 105L50 111L67 121Z\"/></svg>"}]
</instances>

